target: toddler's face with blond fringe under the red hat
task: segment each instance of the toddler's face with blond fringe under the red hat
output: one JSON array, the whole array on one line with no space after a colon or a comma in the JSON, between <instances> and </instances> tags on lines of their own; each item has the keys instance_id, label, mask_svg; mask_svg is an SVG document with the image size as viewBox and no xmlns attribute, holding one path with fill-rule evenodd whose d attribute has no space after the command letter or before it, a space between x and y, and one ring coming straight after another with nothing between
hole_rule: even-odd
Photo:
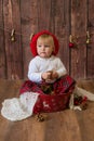
<instances>
[{"instance_id":1,"label":"toddler's face with blond fringe under the red hat","mask_svg":"<svg viewBox=\"0 0 94 141\"><path fill-rule=\"evenodd\" d=\"M54 51L54 44L49 39L38 39L37 53L41 57L50 57Z\"/></svg>"}]
</instances>

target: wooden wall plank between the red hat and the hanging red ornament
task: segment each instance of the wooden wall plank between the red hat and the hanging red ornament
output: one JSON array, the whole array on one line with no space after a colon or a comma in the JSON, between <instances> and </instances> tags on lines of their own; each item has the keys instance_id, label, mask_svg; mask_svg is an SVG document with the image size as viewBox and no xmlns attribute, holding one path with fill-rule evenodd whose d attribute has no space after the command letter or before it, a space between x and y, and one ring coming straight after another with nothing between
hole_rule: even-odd
<instances>
[{"instance_id":1,"label":"wooden wall plank between the red hat and the hanging red ornament","mask_svg":"<svg viewBox=\"0 0 94 141\"><path fill-rule=\"evenodd\" d=\"M69 0L55 2L55 33L59 40L59 57L69 73Z\"/></svg>"}]
</instances>

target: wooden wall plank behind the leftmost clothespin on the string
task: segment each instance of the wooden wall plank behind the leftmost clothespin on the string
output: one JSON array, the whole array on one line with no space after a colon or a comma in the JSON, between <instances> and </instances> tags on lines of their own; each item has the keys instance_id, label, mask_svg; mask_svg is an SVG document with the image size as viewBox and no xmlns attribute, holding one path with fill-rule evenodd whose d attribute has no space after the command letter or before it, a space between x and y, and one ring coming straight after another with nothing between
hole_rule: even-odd
<instances>
[{"instance_id":1,"label":"wooden wall plank behind the leftmost clothespin on the string","mask_svg":"<svg viewBox=\"0 0 94 141\"><path fill-rule=\"evenodd\" d=\"M5 37L5 52L6 52L6 69L8 78L16 76L23 77L23 60L21 47L21 16L19 16L19 1L4 0L3 1L4 15L4 37ZM11 41L11 31L15 29L15 41Z\"/></svg>"}]
</instances>

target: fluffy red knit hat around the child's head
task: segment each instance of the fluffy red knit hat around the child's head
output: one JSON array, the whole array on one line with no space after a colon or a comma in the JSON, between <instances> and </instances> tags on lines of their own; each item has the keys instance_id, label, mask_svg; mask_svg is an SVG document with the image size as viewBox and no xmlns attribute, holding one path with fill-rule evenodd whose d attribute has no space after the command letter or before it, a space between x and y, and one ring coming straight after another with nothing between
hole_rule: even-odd
<instances>
[{"instance_id":1,"label":"fluffy red knit hat around the child's head","mask_svg":"<svg viewBox=\"0 0 94 141\"><path fill-rule=\"evenodd\" d=\"M39 36L43 35L43 34L51 35L53 37L54 44L55 44L55 51L53 54L56 55L58 53L58 49L59 49L58 40L52 33L50 33L48 30L42 30L32 37L31 42L30 42L30 49L31 49L32 55L33 56L38 55L38 53L37 53L37 39L39 38Z\"/></svg>"}]
</instances>

